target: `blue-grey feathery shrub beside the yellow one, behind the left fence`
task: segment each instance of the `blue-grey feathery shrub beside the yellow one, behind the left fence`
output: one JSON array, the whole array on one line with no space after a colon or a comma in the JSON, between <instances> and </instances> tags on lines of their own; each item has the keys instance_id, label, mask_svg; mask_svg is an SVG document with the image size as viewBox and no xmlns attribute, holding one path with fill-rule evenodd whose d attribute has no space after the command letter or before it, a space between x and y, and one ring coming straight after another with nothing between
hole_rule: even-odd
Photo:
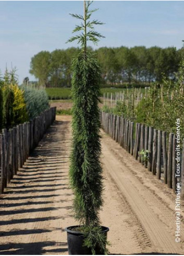
<instances>
[{"instance_id":1,"label":"blue-grey feathery shrub beside the yellow one, behind the left fence","mask_svg":"<svg viewBox=\"0 0 184 256\"><path fill-rule=\"evenodd\" d=\"M31 86L21 86L21 89L24 91L29 119L39 116L44 110L49 108L48 96L44 89Z\"/></svg>"}]
</instances>

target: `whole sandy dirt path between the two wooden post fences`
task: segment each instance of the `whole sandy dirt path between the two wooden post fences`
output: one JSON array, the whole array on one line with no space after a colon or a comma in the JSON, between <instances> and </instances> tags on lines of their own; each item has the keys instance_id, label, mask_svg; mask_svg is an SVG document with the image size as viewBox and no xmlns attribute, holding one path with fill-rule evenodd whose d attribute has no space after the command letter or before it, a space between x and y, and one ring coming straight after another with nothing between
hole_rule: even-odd
<instances>
[{"instance_id":1,"label":"whole sandy dirt path between the two wooden post fences","mask_svg":"<svg viewBox=\"0 0 184 256\"><path fill-rule=\"evenodd\" d=\"M0 254L68 254L71 116L57 116L0 197ZM183 254L175 242L175 195L102 131L104 207L111 254ZM183 204L182 204L183 207ZM184 216L183 208L181 215Z\"/></svg>"}]
</instances>

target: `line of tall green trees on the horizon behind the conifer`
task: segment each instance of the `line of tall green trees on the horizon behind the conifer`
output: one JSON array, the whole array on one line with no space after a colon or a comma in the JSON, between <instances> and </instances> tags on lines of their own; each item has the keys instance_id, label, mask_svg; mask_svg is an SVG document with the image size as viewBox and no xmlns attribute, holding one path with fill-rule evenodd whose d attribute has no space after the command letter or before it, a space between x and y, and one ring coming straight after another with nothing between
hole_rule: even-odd
<instances>
[{"instance_id":1,"label":"line of tall green trees on the horizon behind the conifer","mask_svg":"<svg viewBox=\"0 0 184 256\"><path fill-rule=\"evenodd\" d=\"M79 51L79 48L41 51L32 57L30 73L40 85L70 87L71 61ZM101 64L102 84L161 82L163 73L174 80L181 60L181 49L175 47L102 47L94 52Z\"/></svg>"}]
</instances>

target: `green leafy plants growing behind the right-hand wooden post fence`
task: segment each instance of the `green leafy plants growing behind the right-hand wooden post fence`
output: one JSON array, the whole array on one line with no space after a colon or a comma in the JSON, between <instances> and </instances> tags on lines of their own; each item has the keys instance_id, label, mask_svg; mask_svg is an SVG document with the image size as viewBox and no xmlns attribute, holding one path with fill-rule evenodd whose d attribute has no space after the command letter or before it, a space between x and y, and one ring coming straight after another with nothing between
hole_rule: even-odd
<instances>
[{"instance_id":1,"label":"green leafy plants growing behind the right-hand wooden post fence","mask_svg":"<svg viewBox=\"0 0 184 256\"><path fill-rule=\"evenodd\" d=\"M183 50L184 51L184 50ZM179 64L175 80L163 76L161 84L152 83L146 97L143 97L138 105L133 101L117 102L115 108L105 106L105 112L123 115L137 123L153 126L155 129L176 133L176 120L180 118L180 137L184 138L184 57ZM129 91L130 99L133 98ZM135 107L136 106L136 107Z\"/></svg>"}]
</instances>

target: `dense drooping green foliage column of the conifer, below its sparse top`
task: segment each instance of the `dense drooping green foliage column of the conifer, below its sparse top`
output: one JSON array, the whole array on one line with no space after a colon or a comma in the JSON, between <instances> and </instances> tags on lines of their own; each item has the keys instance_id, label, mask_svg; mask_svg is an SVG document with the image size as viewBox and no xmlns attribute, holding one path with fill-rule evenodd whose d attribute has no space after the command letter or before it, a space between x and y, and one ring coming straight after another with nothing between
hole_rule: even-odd
<instances>
[{"instance_id":1,"label":"dense drooping green foliage column of the conifer, below its sparse top","mask_svg":"<svg viewBox=\"0 0 184 256\"><path fill-rule=\"evenodd\" d=\"M72 64L72 153L71 187L75 192L75 217L83 225L99 225L102 206L100 163L100 70L92 53L83 54Z\"/></svg>"}]
</instances>

